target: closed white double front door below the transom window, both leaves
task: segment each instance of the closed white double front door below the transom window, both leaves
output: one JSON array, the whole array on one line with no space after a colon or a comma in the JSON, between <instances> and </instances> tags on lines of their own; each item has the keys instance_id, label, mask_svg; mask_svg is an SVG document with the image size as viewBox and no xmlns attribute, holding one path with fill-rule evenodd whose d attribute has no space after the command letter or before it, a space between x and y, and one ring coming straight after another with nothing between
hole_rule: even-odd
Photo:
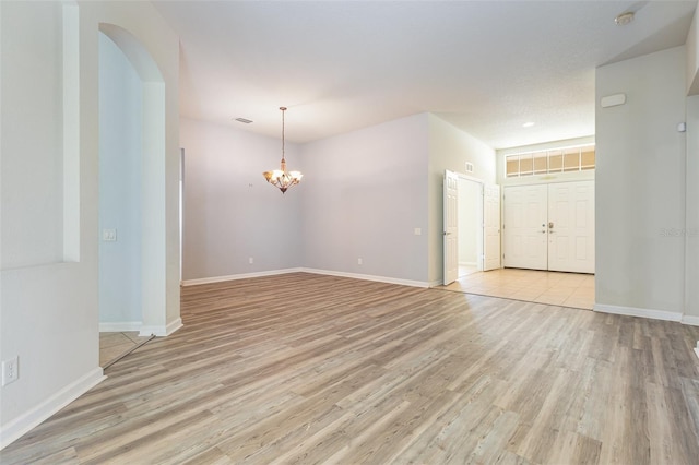
<instances>
[{"instance_id":1,"label":"closed white double front door below the transom window, both leaves","mask_svg":"<svg viewBox=\"0 0 699 465\"><path fill-rule=\"evenodd\" d=\"M594 181L505 188L506 267L594 273Z\"/></svg>"}]
</instances>

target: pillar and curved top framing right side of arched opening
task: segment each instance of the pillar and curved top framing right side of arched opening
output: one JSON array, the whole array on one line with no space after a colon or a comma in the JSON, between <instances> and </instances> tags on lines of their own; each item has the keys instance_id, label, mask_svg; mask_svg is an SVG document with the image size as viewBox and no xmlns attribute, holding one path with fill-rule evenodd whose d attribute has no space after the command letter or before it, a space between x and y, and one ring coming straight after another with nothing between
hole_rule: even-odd
<instances>
[{"instance_id":1,"label":"pillar and curved top framing right side of arched opening","mask_svg":"<svg viewBox=\"0 0 699 465\"><path fill-rule=\"evenodd\" d=\"M164 336L179 319L179 38L153 8L95 9L99 31L120 48L142 87L141 334ZM151 14L143 14L150 10Z\"/></svg>"}]
</instances>

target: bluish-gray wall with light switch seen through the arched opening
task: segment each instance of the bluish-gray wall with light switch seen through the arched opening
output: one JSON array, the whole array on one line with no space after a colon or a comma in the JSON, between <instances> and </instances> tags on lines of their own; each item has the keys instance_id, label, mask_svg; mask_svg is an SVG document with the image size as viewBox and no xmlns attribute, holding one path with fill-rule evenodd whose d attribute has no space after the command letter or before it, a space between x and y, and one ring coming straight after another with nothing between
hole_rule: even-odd
<instances>
[{"instance_id":1,"label":"bluish-gray wall with light switch seen through the arched opening","mask_svg":"<svg viewBox=\"0 0 699 465\"><path fill-rule=\"evenodd\" d=\"M102 327L103 323L140 323L142 319L142 128L141 79L121 49L100 33L99 231L117 229L116 241L99 242Z\"/></svg>"}]
</instances>

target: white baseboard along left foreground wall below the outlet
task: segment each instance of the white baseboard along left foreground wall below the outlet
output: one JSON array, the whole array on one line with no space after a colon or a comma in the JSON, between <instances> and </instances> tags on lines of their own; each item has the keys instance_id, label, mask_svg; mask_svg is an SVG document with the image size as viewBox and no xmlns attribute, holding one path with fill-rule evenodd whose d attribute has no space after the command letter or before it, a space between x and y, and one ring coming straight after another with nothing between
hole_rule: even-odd
<instances>
[{"instance_id":1,"label":"white baseboard along left foreground wall below the outlet","mask_svg":"<svg viewBox=\"0 0 699 465\"><path fill-rule=\"evenodd\" d=\"M84 377L55 393L36 407L29 409L7 425L3 425L2 429L0 429L0 450L36 428L42 421L46 420L51 415L56 414L58 410L90 391L106 378L107 377L102 372L102 368L95 368Z\"/></svg>"}]
</instances>

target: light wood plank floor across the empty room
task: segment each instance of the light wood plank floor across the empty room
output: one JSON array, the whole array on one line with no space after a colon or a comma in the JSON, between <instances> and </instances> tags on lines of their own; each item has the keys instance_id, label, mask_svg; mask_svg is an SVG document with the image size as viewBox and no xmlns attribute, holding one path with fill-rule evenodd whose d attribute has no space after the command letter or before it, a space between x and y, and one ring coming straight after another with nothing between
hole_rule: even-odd
<instances>
[{"instance_id":1,"label":"light wood plank floor across the empty room","mask_svg":"<svg viewBox=\"0 0 699 465\"><path fill-rule=\"evenodd\" d=\"M183 288L182 319L0 462L699 457L699 327L303 273Z\"/></svg>"}]
</instances>

